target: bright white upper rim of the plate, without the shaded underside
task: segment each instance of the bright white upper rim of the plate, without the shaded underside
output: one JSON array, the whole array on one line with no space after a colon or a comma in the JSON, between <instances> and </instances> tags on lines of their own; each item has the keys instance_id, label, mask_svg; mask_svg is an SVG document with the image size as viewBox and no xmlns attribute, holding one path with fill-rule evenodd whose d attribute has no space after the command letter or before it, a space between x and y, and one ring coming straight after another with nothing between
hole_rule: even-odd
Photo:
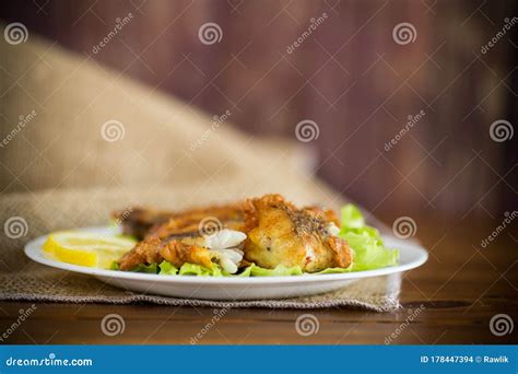
<instances>
[{"instance_id":1,"label":"bright white upper rim of the plate, without the shaded underside","mask_svg":"<svg viewBox=\"0 0 518 374\"><path fill-rule=\"evenodd\" d=\"M85 232L98 232L110 230L114 231L113 226L91 226L91 227L80 227L71 229L74 231L85 231ZM47 239L49 234L42 235L33 238L27 242L24 246L25 256L31 260L45 265L51 268L83 273L92 277L103 277L103 278L116 278L120 280L141 280L141 281L154 281L154 282L173 282L173 283L199 283L199 284L214 284L214 285L229 285L229 284L250 284L250 283L297 283L301 281L342 281L342 280L353 280L360 278L370 278L370 277L380 277L388 276L391 273L398 273L415 269L428 259L428 252L419 245L415 242L408 242L399 239L392 236L384 237L384 239L398 243L398 248L400 252L413 252L416 255L416 259L409 264L397 265L391 267L386 267L381 269L374 270L363 270L355 272L344 272L344 273L330 273L330 274L303 274L303 276L272 276L272 277L192 277L192 276L160 276L151 274L143 272L130 272L130 271L118 271L118 270L107 270L98 268L89 268L80 265L73 265L68 262L61 262L57 260L49 259L45 257L43 253L43 244ZM393 246L391 244L391 246Z\"/></svg>"}]
</instances>

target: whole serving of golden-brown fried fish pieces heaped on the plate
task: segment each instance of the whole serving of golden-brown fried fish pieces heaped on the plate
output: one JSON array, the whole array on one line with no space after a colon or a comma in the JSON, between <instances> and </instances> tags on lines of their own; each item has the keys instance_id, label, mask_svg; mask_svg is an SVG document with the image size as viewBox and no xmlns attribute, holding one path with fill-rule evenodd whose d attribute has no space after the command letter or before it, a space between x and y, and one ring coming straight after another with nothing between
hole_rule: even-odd
<instances>
[{"instance_id":1,"label":"whole serving of golden-brown fried fish pieces heaped on the plate","mask_svg":"<svg viewBox=\"0 0 518 374\"><path fill-rule=\"evenodd\" d=\"M125 233L143 239L120 258L122 270L164 259L176 267L191 262L212 268L216 262L232 273L250 262L270 269L298 265L308 272L352 262L348 243L338 237L333 211L297 209L280 195L179 212L126 211L131 213L121 220ZM217 235L203 233L208 219L221 224Z\"/></svg>"}]
</instances>

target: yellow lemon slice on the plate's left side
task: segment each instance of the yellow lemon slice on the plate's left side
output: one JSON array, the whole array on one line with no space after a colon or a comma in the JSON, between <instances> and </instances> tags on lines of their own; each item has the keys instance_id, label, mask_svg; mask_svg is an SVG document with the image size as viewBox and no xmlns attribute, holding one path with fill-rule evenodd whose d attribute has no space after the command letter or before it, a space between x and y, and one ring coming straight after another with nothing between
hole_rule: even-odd
<instances>
[{"instance_id":1,"label":"yellow lemon slice on the plate's left side","mask_svg":"<svg viewBox=\"0 0 518 374\"><path fill-rule=\"evenodd\" d=\"M63 231L50 234L43 248L58 261L108 269L136 243L126 237Z\"/></svg>"}]
</instances>

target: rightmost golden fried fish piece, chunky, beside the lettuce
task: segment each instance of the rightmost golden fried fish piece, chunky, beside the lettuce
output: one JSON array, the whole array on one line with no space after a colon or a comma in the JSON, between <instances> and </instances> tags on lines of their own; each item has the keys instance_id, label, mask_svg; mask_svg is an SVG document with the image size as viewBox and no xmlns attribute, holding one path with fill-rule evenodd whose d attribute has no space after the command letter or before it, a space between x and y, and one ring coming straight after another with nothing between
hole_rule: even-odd
<instances>
[{"instance_id":1,"label":"rightmost golden fried fish piece, chunky, beside the lettuce","mask_svg":"<svg viewBox=\"0 0 518 374\"><path fill-rule=\"evenodd\" d=\"M337 236L331 211L297 209L280 195L267 195L247 200L244 212L245 258L260 267L298 265L315 272L346 268L353 260L349 244Z\"/></svg>"}]
</instances>

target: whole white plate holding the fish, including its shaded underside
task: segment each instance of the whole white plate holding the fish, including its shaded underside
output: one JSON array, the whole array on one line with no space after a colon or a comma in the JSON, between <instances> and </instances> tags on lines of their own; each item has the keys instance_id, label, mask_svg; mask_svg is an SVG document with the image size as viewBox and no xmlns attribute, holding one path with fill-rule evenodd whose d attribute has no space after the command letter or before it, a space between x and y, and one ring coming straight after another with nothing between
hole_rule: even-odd
<instances>
[{"instance_id":1,"label":"whole white plate holding the fish, including its shaded underside","mask_svg":"<svg viewBox=\"0 0 518 374\"><path fill-rule=\"evenodd\" d=\"M113 234L113 227L87 227L82 231ZM43 244L47 235L27 243L25 254L36 262L54 268L93 276L103 282L141 293L202 299L202 300L260 300L307 296L340 289L351 282L367 277L379 277L402 272L423 265L428 258L426 250L414 243L387 237L389 248L400 250L399 265L376 270L338 274L304 274L292 277L189 277L158 276L87 268L47 258Z\"/></svg>"}]
</instances>

